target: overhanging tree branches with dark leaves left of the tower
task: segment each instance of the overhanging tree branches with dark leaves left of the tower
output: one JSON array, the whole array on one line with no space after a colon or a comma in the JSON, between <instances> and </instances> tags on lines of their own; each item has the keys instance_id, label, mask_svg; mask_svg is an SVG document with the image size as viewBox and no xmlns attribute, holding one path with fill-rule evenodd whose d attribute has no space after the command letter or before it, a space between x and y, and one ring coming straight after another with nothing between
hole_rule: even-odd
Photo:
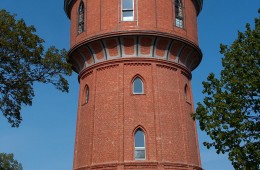
<instances>
[{"instance_id":1,"label":"overhanging tree branches with dark leaves left of the tower","mask_svg":"<svg viewBox=\"0 0 260 170\"><path fill-rule=\"evenodd\" d=\"M54 46L44 50L44 40L35 32L23 19L0 10L0 112L12 127L19 127L22 121L22 106L32 105L35 82L69 90L64 76L72 71L66 50Z\"/></svg>"}]
</instances>

